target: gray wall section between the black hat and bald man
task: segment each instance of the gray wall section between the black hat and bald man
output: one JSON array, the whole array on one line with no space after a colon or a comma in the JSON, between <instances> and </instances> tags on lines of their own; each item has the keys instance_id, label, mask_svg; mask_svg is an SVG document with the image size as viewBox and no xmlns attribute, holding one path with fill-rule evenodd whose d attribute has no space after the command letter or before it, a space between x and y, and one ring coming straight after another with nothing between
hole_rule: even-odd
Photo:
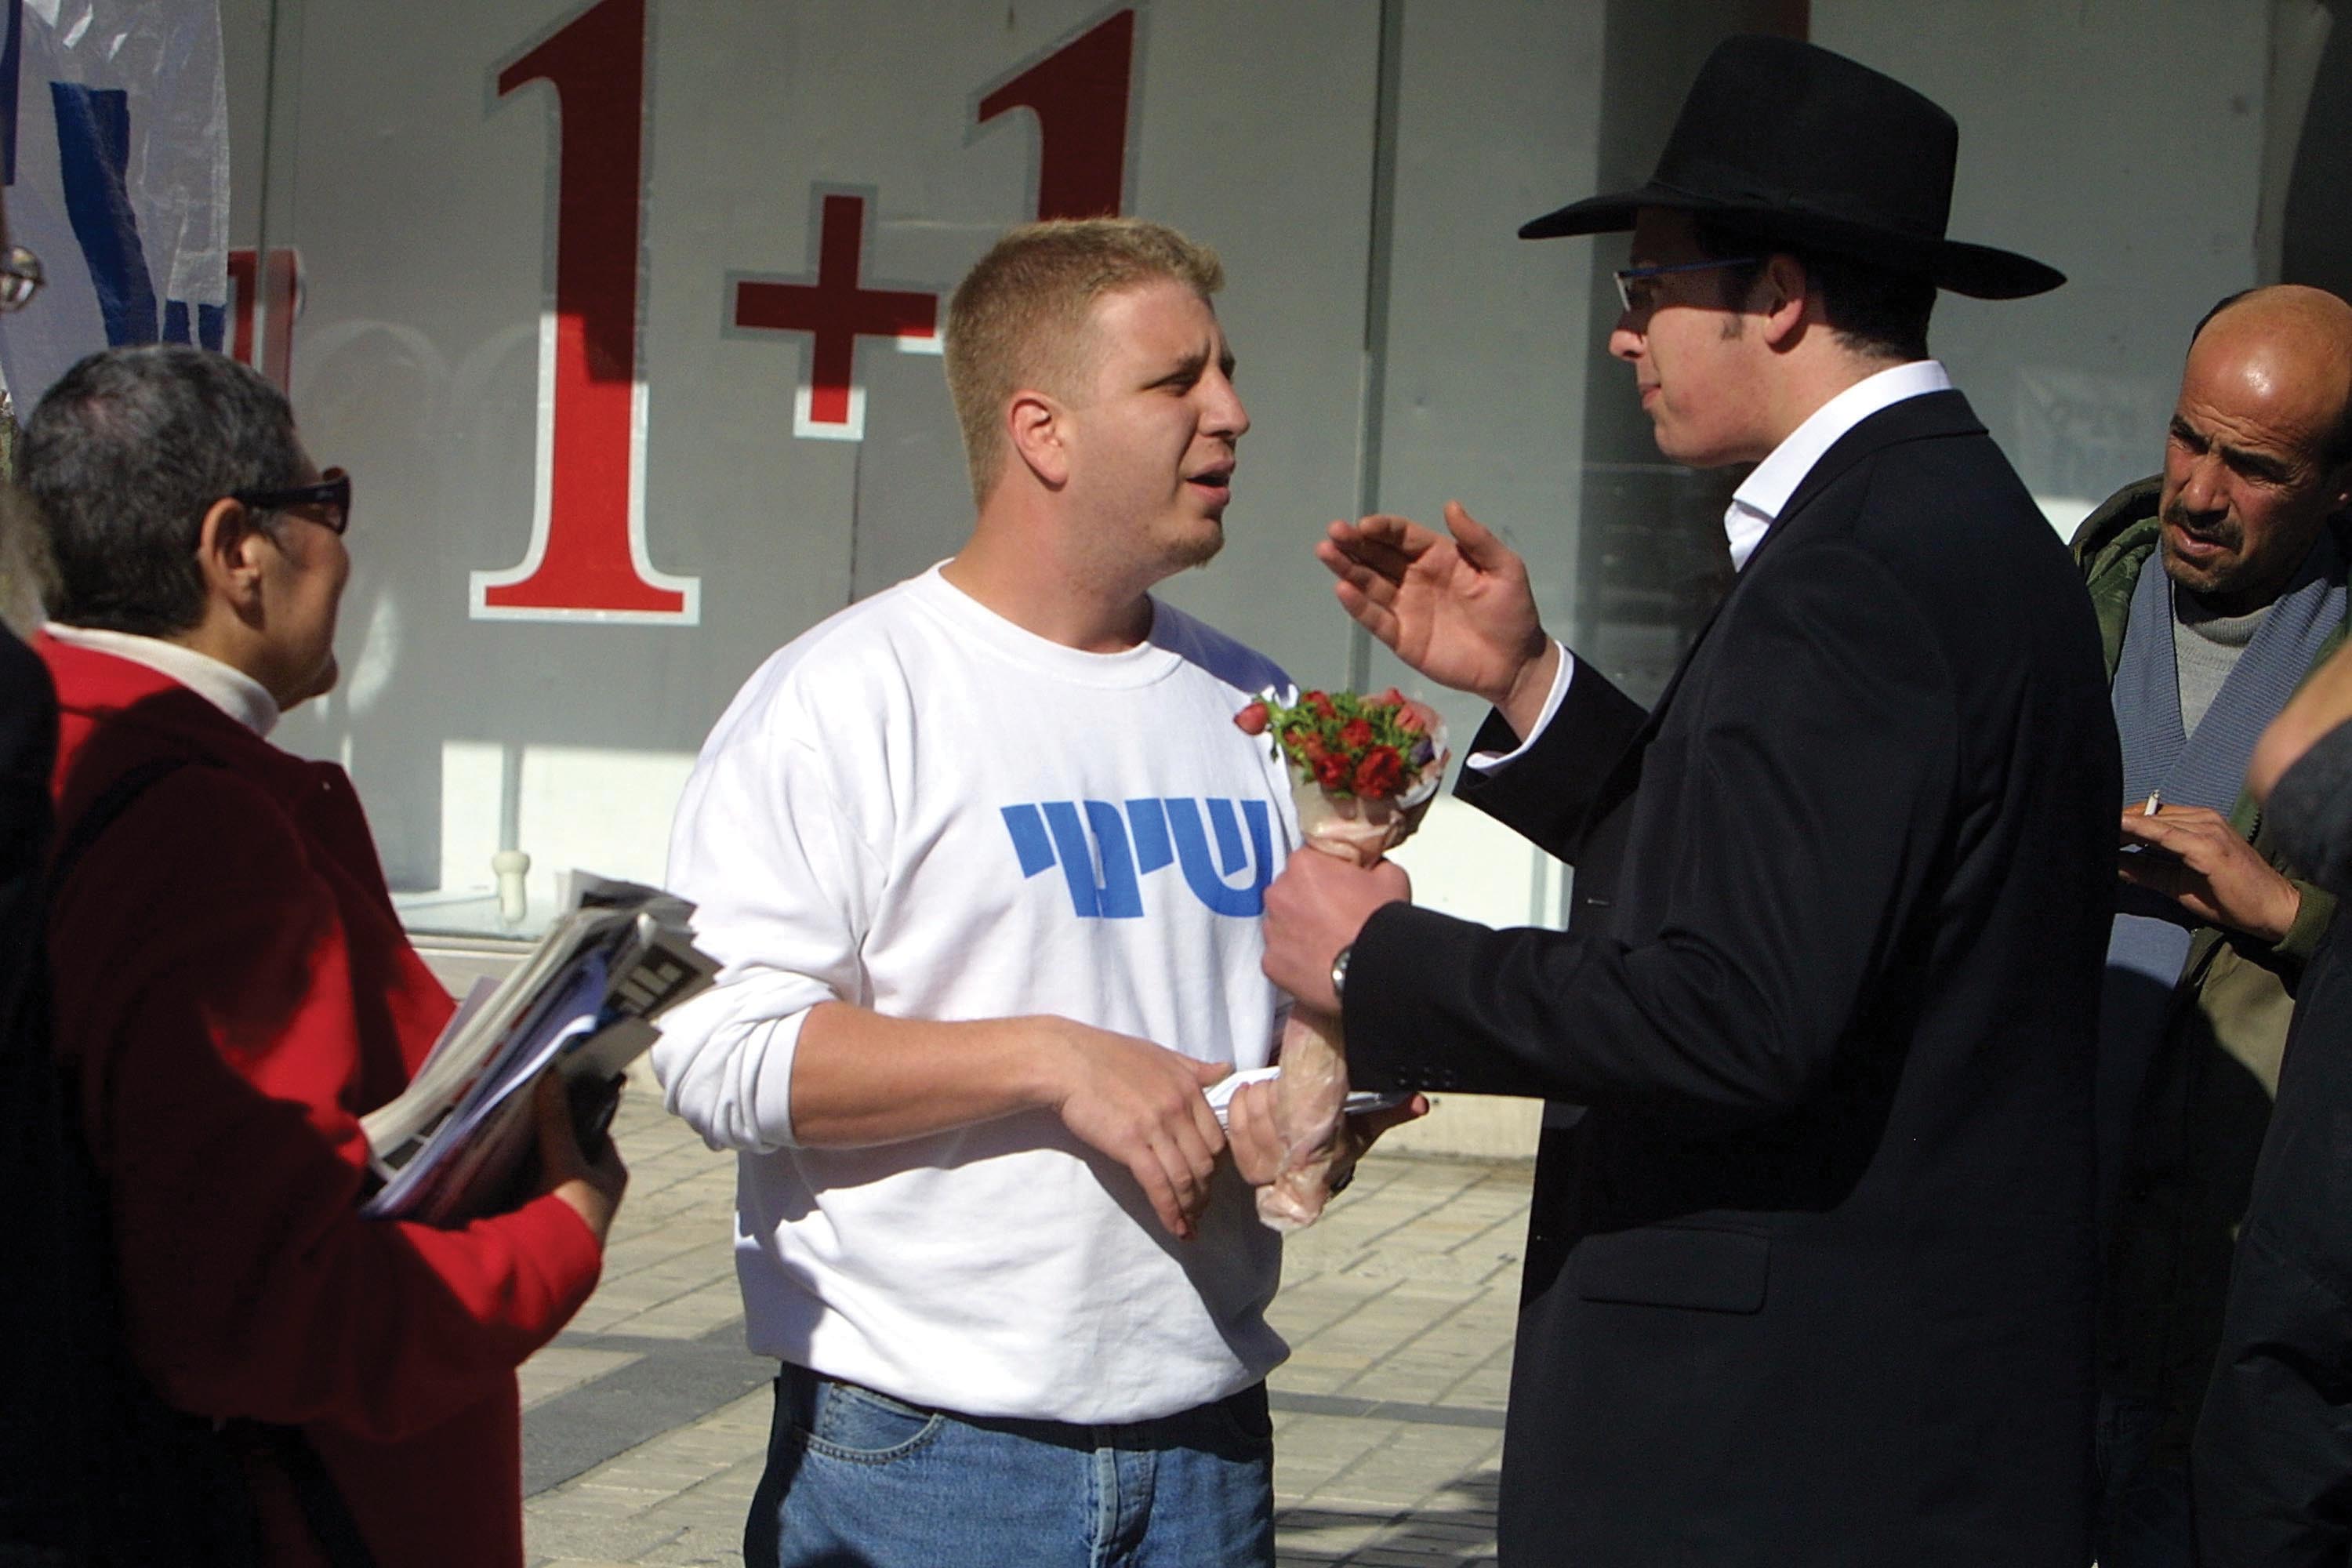
<instances>
[{"instance_id":1,"label":"gray wall section between the black hat and bald man","mask_svg":"<svg viewBox=\"0 0 2352 1568\"><path fill-rule=\"evenodd\" d=\"M2258 280L2270 5L1816 0L1813 40L1959 118L1955 237L2070 280L1936 308L2025 484L2063 510L2154 473L2190 327Z\"/></svg>"}]
</instances>

